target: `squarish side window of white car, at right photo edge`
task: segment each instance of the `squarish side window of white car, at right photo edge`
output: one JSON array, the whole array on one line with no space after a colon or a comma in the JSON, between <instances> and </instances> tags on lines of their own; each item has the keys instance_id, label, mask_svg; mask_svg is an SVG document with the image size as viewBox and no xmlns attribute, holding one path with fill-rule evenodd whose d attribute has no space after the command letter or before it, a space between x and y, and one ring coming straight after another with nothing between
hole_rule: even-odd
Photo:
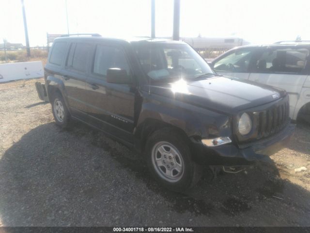
<instances>
[{"instance_id":1,"label":"squarish side window of white car, at right photo edge","mask_svg":"<svg viewBox=\"0 0 310 233\"><path fill-rule=\"evenodd\" d=\"M256 62L258 73L300 73L306 66L309 50L305 48L268 48Z\"/></svg>"}]
</instances>

